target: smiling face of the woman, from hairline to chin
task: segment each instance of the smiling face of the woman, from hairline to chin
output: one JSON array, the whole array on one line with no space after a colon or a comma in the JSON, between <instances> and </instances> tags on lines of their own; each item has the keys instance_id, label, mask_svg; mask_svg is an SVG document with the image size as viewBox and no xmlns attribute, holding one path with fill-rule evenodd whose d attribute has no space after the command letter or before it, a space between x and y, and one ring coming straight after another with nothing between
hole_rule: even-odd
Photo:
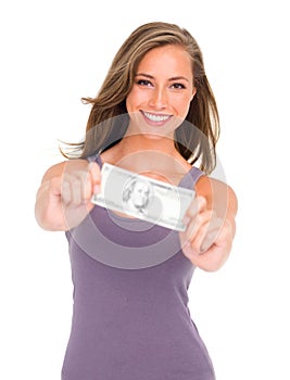
<instances>
[{"instance_id":1,"label":"smiling face of the woman, from hairline to chin","mask_svg":"<svg viewBox=\"0 0 290 380\"><path fill-rule=\"evenodd\" d=\"M168 45L150 50L137 67L126 100L130 130L173 137L194 93L190 55L182 47Z\"/></svg>"}]
</instances>

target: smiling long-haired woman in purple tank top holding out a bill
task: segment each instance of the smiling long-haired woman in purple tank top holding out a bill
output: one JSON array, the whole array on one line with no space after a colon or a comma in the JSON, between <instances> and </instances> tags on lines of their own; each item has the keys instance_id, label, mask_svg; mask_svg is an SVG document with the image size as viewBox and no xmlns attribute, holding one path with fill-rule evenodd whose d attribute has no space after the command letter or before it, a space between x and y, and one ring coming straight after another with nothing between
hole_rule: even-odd
<instances>
[{"instance_id":1,"label":"smiling long-haired woman in purple tank top holding out a bill","mask_svg":"<svg viewBox=\"0 0 290 380\"><path fill-rule=\"evenodd\" d=\"M47 170L36 200L39 225L66 231L70 244L74 314L62 379L213 380L187 290L196 267L217 270L227 259L237 200L207 176L219 128L199 46L176 25L142 25L85 101L85 141ZM186 230L93 205L103 163L194 190Z\"/></svg>"}]
</instances>

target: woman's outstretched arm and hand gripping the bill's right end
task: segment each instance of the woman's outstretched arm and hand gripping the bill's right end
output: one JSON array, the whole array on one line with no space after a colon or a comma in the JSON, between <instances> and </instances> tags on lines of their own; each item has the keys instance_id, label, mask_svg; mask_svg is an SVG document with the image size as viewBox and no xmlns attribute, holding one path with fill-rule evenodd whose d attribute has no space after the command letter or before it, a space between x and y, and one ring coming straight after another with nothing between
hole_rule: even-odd
<instances>
[{"instance_id":1,"label":"woman's outstretched arm and hand gripping the bill's right end","mask_svg":"<svg viewBox=\"0 0 290 380\"><path fill-rule=\"evenodd\" d=\"M201 269L219 269L228 258L236 232L238 201L223 181L202 176L196 185L196 198L187 210L180 232L184 254Z\"/></svg>"}]
</instances>

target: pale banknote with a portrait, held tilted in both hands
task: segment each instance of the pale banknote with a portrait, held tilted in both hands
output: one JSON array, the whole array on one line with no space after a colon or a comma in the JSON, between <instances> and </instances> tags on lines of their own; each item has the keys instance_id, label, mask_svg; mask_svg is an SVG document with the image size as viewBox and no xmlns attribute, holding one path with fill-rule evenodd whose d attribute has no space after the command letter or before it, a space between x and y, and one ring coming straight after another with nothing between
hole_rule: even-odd
<instances>
[{"instance_id":1,"label":"pale banknote with a portrait, held tilted in both hands","mask_svg":"<svg viewBox=\"0 0 290 380\"><path fill-rule=\"evenodd\" d=\"M193 190L138 175L104 163L101 190L91 202L122 214L184 231L182 218Z\"/></svg>"}]
</instances>

